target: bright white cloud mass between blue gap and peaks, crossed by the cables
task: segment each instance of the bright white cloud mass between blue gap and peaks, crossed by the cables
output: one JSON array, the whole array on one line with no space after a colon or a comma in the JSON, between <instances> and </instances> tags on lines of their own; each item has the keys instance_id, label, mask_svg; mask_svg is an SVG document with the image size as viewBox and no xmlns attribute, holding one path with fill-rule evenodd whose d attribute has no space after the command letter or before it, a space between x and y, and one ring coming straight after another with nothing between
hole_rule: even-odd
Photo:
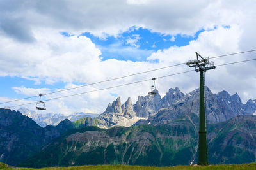
<instances>
[{"instance_id":1,"label":"bright white cloud mass between blue gap and peaks, crossed by the cables","mask_svg":"<svg viewBox=\"0 0 256 170\"><path fill-rule=\"evenodd\" d=\"M30 56L29 50L27 53L25 50L22 55L19 55L20 58L17 57L15 60L11 60L12 62L9 61L10 63L6 62L10 65L13 64L13 66L15 63L20 63L16 66L17 68L14 69L15 72L12 68L5 70L1 69L1 71L5 71L4 74L10 73L19 76L31 75L32 77L35 76L40 78L40 80L50 82L61 80L65 82L78 81L88 84L129 74L140 73L141 71L147 71L149 69L156 69L158 67L187 62L189 59L195 59L195 52L199 52L204 57L207 57L208 55L209 57L214 57L225 53L239 52L239 42L242 36L241 32L241 26L239 25L234 25L230 28L218 27L212 31L205 31L198 36L197 40L191 41L187 46L174 46L166 50L159 50L156 53L152 53L146 62L120 61L116 59L101 61L99 59L100 51L95 47L95 45L93 45L90 39L83 36L79 38L67 38L51 34L50 36L42 36L45 40L38 38L37 42L40 45L35 44L33 46L33 54L39 58ZM19 43L12 44L13 48L20 48L19 45ZM43 58L40 58L40 53L42 53L42 55L46 54ZM5 56L8 55L5 54ZM30 60L26 60L25 56L28 56ZM246 57L246 55L234 55L214 59L214 61L215 64L223 64L236 60L244 60ZM159 63L150 62L151 60L156 59L159 60ZM17 60L19 60L19 62L17 62ZM40 62L38 62L38 60ZM217 67L215 70L207 71L207 73L205 73L206 83L213 92L220 92L221 90L227 90L230 94L238 92L243 101L246 101L248 97L255 98L256 94L253 94L253 89L255 89L255 74L251 72L255 67L244 66L248 66L248 64ZM138 76L131 76L121 80L68 90L58 94L44 96L43 98L52 99L55 97L88 92L115 85L122 85L134 81L150 80L153 77L157 78L168 74L180 73L189 69L190 68L184 64L182 66L171 67L170 69L163 69L152 73L140 74ZM191 72L180 74L178 76L157 79L156 88L163 97L170 87L179 87L182 92L190 92L198 87L198 81L198 73ZM128 97L132 97L132 101L135 103L138 96L147 95L150 90L150 85L152 85L152 81L146 81L125 87L101 90L88 94L81 94L79 96L65 97L53 101L47 101L46 107L47 111L54 113L69 114L79 111L102 113L106 109L106 106L108 106L108 103L116 99L116 97L111 96L111 93L121 96L123 103ZM65 89L70 87L76 87L76 85L68 83ZM29 93L31 96L34 95L33 93L37 95L38 91L42 92L42 89L31 89L26 87L15 87L13 89L17 90L17 92L23 92L23 94ZM250 94L250 96L248 96L248 94ZM22 101L21 103L26 102ZM18 102L15 104L18 104ZM35 110L35 106L33 104L28 107Z\"/></svg>"}]
</instances>

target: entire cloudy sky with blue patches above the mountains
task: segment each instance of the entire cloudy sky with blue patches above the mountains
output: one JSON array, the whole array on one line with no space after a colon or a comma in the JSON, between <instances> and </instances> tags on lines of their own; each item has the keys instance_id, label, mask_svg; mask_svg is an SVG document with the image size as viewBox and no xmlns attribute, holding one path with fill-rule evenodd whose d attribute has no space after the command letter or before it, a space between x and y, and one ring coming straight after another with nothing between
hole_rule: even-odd
<instances>
[{"instance_id":1,"label":"entire cloudy sky with blue patches above the mountains","mask_svg":"<svg viewBox=\"0 0 256 170\"><path fill-rule=\"evenodd\" d=\"M179 87L199 87L199 74L186 64L90 85L91 83L172 66L203 57L256 49L254 1L0 1L0 103L47 94L42 100L106 89L156 77L163 97ZM216 65L255 59L256 52L210 59ZM205 73L213 93L256 99L256 62ZM193 69L193 68L192 68ZM116 97L121 102L146 96L152 81L99 90L45 102L38 113L102 113ZM16 106L38 97L0 104ZM35 104L24 105L36 110ZM12 109L19 109L13 107Z\"/></svg>"}]
</instances>

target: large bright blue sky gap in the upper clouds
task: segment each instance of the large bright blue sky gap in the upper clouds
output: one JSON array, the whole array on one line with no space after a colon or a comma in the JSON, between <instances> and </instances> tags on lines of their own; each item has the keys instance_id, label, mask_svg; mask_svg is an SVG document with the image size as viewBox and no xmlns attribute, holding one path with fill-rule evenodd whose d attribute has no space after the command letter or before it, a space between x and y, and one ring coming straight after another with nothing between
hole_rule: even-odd
<instances>
[{"instance_id":1,"label":"large bright blue sky gap in the upper clouds","mask_svg":"<svg viewBox=\"0 0 256 170\"><path fill-rule=\"evenodd\" d=\"M122 32L118 36L108 36L99 38L93 36L90 32L84 32L102 52L102 60L117 59L145 61L147 57L157 50L164 50L171 46L185 46L189 42L198 38L198 34L204 29L188 36L182 34L170 35L161 34L161 32L152 32L147 28L130 27L129 31ZM67 32L61 32L64 36L71 36Z\"/></svg>"}]
</instances>

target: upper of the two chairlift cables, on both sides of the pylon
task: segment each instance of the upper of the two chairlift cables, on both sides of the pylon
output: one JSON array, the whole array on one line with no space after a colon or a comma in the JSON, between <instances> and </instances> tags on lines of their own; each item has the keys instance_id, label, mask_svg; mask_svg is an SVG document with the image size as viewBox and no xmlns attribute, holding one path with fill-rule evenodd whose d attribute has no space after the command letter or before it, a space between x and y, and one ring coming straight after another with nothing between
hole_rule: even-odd
<instances>
[{"instance_id":1,"label":"upper of the two chairlift cables, on both sides of the pylon","mask_svg":"<svg viewBox=\"0 0 256 170\"><path fill-rule=\"evenodd\" d=\"M219 56L216 56L216 57L210 57L210 59L214 59L214 58L218 58L218 57L225 57L225 56L229 56L229 55L237 55L237 54L239 54L239 53L255 52L255 51L256 51L256 49L255 49L255 50L244 51L244 52L238 52L238 53L230 53L230 54L226 54L226 55L219 55ZM72 89L78 89L78 88L86 87L86 86L90 86L90 85L96 85L96 84L104 83L104 82L108 82L108 81L119 80L119 79L122 79L122 78L127 78L127 77L130 77L130 76L136 76L136 75L138 75L138 74L149 73L149 72L152 72L152 71L158 71L158 70L166 69L166 68L170 68L170 67L181 66L181 65L183 65L183 64L186 64L186 62L183 62L183 63L180 63L180 64L175 64L175 65L172 65L172 66L166 66L166 67L160 67L160 68L157 68L157 69L151 69L151 70L143 71L143 72L140 72L140 73L129 74L129 75L127 75L127 76L121 76L121 77L112 78L112 79L109 79L109 80L98 81L98 82L90 83L90 84L87 84L87 85L79 85L79 86L77 86L77 87L72 87L72 88L63 89L63 90L57 90L57 91L55 91L55 92L49 92L49 93L46 93L46 94L42 94L42 96L46 96L46 95L54 94L54 93L58 93L58 92L64 92L64 91L72 90ZM25 97L25 98L22 98L22 99L15 99L15 100L6 101L6 102L0 103L0 104L12 103L12 102L15 102L15 101L21 101L21 100L24 100L24 99L31 99L31 98L38 97L38 96L39 96L39 95L31 96L31 97Z\"/></svg>"}]
</instances>

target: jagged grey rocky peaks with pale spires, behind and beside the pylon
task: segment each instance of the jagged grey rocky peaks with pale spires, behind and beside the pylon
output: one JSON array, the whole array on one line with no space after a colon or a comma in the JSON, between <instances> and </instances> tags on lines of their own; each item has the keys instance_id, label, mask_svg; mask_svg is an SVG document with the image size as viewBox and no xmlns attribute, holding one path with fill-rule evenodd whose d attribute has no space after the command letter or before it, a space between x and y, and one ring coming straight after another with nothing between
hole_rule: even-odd
<instances>
[{"instance_id":1,"label":"jagged grey rocky peaks with pale spires, behind and beside the pylon","mask_svg":"<svg viewBox=\"0 0 256 170\"><path fill-rule=\"evenodd\" d=\"M243 104L238 94L230 96L225 91L213 94L208 87L205 87L205 106L207 121L212 123L223 122L237 115L256 114L256 100L249 100ZM176 87L169 89L163 99L158 92L156 96L139 96L133 106L131 98L121 105L118 97L112 104L109 103L106 111L100 115L99 127L111 127L132 118L139 121L137 125L148 123L157 125L163 124L163 120L170 122L169 119L172 119L173 115L188 114L199 114L199 89L184 95Z\"/></svg>"}]
</instances>

